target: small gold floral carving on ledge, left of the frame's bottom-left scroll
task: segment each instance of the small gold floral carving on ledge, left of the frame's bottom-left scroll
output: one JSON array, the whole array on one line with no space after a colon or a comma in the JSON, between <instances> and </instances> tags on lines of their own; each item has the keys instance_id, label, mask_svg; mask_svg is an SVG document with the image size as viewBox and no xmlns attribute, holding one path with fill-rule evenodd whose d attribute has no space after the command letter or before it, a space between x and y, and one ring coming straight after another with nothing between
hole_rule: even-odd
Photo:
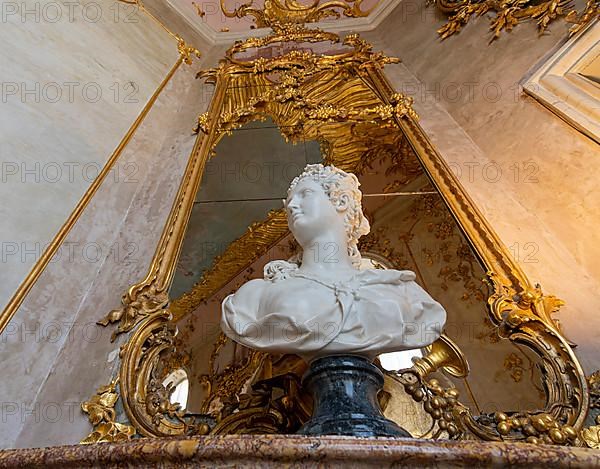
<instances>
[{"instance_id":1,"label":"small gold floral carving on ledge, left of the frame's bottom-left scroll","mask_svg":"<svg viewBox=\"0 0 600 469\"><path fill-rule=\"evenodd\" d=\"M91 443L116 443L130 440L136 434L135 428L115 422L115 404L119 399L117 393L118 380L101 386L89 401L81 404L81 409L88 414L94 430L83 440L82 445Z\"/></svg>"}]
</instances>

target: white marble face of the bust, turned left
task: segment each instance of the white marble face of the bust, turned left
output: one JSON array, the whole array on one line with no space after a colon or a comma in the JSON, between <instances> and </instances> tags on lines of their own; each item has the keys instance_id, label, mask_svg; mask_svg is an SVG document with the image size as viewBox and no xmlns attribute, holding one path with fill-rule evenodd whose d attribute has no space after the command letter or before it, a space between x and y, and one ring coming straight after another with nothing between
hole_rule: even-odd
<instances>
[{"instance_id":1,"label":"white marble face of the bust, turned left","mask_svg":"<svg viewBox=\"0 0 600 469\"><path fill-rule=\"evenodd\" d=\"M345 233L343 211L336 210L321 185L311 178L302 179L292 189L286 211L290 231L300 245L331 229Z\"/></svg>"}]
</instances>

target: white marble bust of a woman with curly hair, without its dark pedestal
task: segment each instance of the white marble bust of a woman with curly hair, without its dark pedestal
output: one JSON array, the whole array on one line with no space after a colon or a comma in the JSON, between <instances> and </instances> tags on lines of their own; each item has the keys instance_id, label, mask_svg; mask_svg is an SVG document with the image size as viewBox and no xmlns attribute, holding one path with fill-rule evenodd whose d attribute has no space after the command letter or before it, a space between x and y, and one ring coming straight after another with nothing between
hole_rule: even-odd
<instances>
[{"instance_id":1,"label":"white marble bust of a woman with curly hair, without its dark pedestal","mask_svg":"<svg viewBox=\"0 0 600 469\"><path fill-rule=\"evenodd\" d=\"M273 261L223 301L221 327L236 342L306 361L351 354L373 359L424 347L441 334L446 311L409 270L359 270L358 239L369 232L360 183L312 164L284 201L300 262Z\"/></svg>"}]
</instances>

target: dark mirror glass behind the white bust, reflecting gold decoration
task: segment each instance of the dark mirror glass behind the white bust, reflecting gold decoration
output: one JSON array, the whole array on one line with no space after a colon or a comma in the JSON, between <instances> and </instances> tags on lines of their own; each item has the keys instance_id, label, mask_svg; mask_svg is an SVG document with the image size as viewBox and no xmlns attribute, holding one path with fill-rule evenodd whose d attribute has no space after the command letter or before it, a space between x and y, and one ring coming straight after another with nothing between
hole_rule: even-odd
<instances>
[{"instance_id":1,"label":"dark mirror glass behind the white bust, reflecting gold decoration","mask_svg":"<svg viewBox=\"0 0 600 469\"><path fill-rule=\"evenodd\" d=\"M302 133L295 130L285 129L283 134ZM439 379L455 386L461 402L474 414L543 408L538 358L497 335L487 313L490 291L483 282L485 271L406 139L400 132L390 135L389 129L372 125L355 126L353 131L370 141L385 142L367 150L354 170L371 223L371 233L360 241L365 263L369 268L414 271L417 282L445 307L445 333L470 365L466 378L441 375ZM257 359L255 353L226 339L219 326L220 304L242 283L262 276L268 261L294 254L295 242L285 228L268 246L240 244L239 239L268 225L269 213L282 208L289 183L305 164L327 162L322 147L314 140L286 142L271 119L235 129L215 146L170 291L177 317L176 354L189 376L187 412L215 417L224 409L229 412L227 407L236 408L239 394L250 392L259 378L289 372L289 359L277 369L278 358L267 364L264 357ZM219 275L215 267L223 256L232 255L241 268L221 279L220 288L203 289L211 276ZM195 292L201 295L194 298ZM400 363L410 367L411 356L421 354L420 350L402 352ZM392 367L390 360L383 357L382 365ZM294 367L303 369L302 363ZM399 412L408 405L402 387L390 381L386 390L390 392L386 413L405 418Z\"/></svg>"}]
</instances>

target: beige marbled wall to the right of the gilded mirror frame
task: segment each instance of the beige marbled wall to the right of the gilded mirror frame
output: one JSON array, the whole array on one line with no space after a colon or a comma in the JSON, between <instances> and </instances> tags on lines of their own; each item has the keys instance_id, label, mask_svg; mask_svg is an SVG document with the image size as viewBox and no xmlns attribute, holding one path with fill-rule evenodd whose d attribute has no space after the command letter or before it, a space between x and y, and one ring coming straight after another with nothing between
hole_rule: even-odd
<instances>
[{"instance_id":1,"label":"beige marbled wall to the right of the gilded mirror frame","mask_svg":"<svg viewBox=\"0 0 600 469\"><path fill-rule=\"evenodd\" d=\"M530 279L566 301L558 317L591 372L600 364L600 151L520 88L568 25L538 37L534 22L521 24L488 44L487 18L441 41L444 19L404 1L364 37L402 59L387 68L396 89L415 98L421 125Z\"/></svg>"}]
</instances>

